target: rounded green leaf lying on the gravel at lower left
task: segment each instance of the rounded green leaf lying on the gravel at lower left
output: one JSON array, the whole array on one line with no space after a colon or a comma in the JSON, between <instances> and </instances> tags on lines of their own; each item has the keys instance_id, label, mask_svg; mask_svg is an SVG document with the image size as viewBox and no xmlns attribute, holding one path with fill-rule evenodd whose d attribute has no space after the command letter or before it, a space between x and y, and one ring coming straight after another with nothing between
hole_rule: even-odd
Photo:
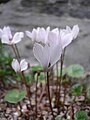
<instances>
[{"instance_id":1,"label":"rounded green leaf lying on the gravel at lower left","mask_svg":"<svg viewBox=\"0 0 90 120\"><path fill-rule=\"evenodd\" d=\"M5 95L4 100L9 102L9 103L18 103L20 102L25 96L26 96L26 91L20 91L18 89L13 89L7 92Z\"/></svg>"}]
</instances>

